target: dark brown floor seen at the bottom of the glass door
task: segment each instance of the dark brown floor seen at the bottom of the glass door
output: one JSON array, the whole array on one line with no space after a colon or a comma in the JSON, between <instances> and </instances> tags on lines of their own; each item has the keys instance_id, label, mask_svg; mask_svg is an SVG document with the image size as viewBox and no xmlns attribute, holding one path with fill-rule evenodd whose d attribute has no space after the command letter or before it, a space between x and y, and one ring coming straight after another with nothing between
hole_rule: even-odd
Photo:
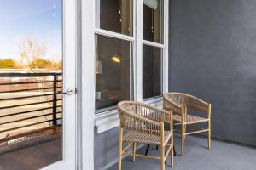
<instances>
[{"instance_id":1,"label":"dark brown floor seen at the bottom of the glass door","mask_svg":"<svg viewBox=\"0 0 256 170\"><path fill-rule=\"evenodd\" d=\"M36 170L61 160L61 139L0 155L0 170Z\"/></svg>"}]
</instances>

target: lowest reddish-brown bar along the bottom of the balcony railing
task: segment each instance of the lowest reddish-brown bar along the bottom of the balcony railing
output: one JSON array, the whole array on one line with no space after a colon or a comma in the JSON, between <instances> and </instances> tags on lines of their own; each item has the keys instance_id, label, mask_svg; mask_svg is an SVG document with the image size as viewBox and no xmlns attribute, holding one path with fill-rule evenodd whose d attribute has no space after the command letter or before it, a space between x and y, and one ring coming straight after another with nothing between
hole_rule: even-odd
<instances>
[{"instance_id":1,"label":"lowest reddish-brown bar along the bottom of the balcony railing","mask_svg":"<svg viewBox=\"0 0 256 170\"><path fill-rule=\"evenodd\" d=\"M26 133L19 133L19 134L16 134L14 136L9 136L9 137L6 137L4 139L0 139L0 144L3 143L3 142L8 142L8 141L13 140L13 139L19 139L19 138L22 138L22 137L30 136L30 135L35 134L35 133L42 133L44 131L51 130L51 129L54 129L54 128L57 128L57 127L58 126L44 127L44 128L39 128L37 130L32 130L30 132L26 132Z\"/></svg>"}]
</instances>

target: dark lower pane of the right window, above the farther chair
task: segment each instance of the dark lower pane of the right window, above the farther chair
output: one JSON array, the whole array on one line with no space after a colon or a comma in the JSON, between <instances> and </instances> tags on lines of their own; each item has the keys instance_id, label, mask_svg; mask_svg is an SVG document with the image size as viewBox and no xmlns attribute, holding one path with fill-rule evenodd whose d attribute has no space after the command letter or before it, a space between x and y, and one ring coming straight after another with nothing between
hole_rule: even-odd
<instances>
[{"instance_id":1,"label":"dark lower pane of the right window, above the farther chair","mask_svg":"<svg viewBox=\"0 0 256 170\"><path fill-rule=\"evenodd\" d=\"M143 99L162 94L161 48L143 45Z\"/></svg>"}]
</instances>

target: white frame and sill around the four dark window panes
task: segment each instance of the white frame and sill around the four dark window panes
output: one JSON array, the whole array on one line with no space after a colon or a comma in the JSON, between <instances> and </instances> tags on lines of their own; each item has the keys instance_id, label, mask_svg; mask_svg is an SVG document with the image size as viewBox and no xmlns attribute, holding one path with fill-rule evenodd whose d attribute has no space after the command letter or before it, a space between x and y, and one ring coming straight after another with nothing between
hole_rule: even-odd
<instances>
[{"instance_id":1,"label":"white frame and sill around the four dark window panes","mask_svg":"<svg viewBox=\"0 0 256 170\"><path fill-rule=\"evenodd\" d=\"M96 8L93 8L94 16L94 36L102 35L107 37L118 38L131 42L132 56L131 56L131 99L139 102L145 102L151 105L156 105L162 101L162 95L156 96L155 98L143 99L143 44L153 46L162 49L162 94L168 92L168 23L169 23L169 2L168 0L163 1L163 34L164 36L162 43L150 42L143 40L143 0L133 0L132 6L132 28L133 35L127 36L113 31L103 30L96 27ZM95 4L94 4L95 5ZM94 40L95 41L95 40ZM93 42L92 44L95 44ZM95 46L95 45L94 45ZM95 47L93 48L95 53ZM93 56L94 64L96 62L95 55ZM91 71L90 71L91 72ZM96 75L95 66L93 71L94 77L94 88L93 92L96 91ZM93 97L94 108L95 108L95 96ZM96 133L102 133L113 127L119 126L117 119L117 109L113 107L113 110L94 111L95 113L95 126ZM114 125L112 122L116 122ZM110 123L106 125L106 123ZM103 126L103 130L102 127ZM101 130L97 130L101 128ZM105 130L104 130L105 129Z\"/></svg>"}]
</instances>

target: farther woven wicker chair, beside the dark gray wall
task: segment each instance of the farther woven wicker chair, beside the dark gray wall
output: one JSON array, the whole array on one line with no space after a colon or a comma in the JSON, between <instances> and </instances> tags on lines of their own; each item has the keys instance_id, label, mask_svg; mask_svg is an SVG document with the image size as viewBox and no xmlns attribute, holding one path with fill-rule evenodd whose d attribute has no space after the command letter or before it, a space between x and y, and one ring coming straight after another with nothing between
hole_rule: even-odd
<instances>
[{"instance_id":1,"label":"farther woven wicker chair, beside the dark gray wall","mask_svg":"<svg viewBox=\"0 0 256 170\"><path fill-rule=\"evenodd\" d=\"M188 108L205 112L207 116L189 115ZM181 156L184 155L185 136L189 134L208 132L208 149L211 148L211 104L189 94L167 93L164 95L164 109L173 112L173 121L177 122L175 125L181 125ZM197 131L186 132L187 126L201 122L207 122L207 128L199 127Z\"/></svg>"}]
</instances>

